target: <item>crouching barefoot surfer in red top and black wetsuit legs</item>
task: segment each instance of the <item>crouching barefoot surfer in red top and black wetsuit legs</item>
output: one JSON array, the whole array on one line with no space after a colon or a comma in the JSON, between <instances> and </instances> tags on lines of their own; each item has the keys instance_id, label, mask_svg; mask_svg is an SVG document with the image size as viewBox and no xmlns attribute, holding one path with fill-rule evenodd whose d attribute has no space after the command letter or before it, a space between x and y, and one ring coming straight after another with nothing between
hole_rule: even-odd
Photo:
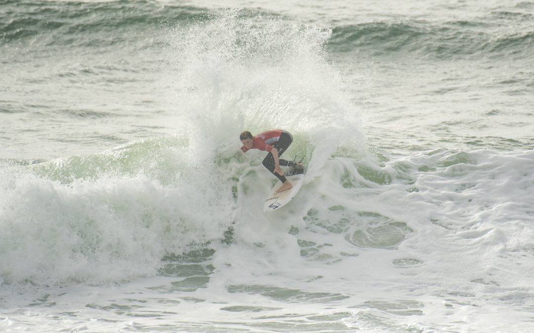
<instances>
[{"instance_id":1,"label":"crouching barefoot surfer in red top and black wetsuit legs","mask_svg":"<svg viewBox=\"0 0 534 333\"><path fill-rule=\"evenodd\" d=\"M291 183L284 177L280 166L296 166L297 163L281 159L280 156L286 151L289 145L293 142L293 136L281 129L272 129L265 131L258 135L252 136L249 131L242 132L239 135L239 140L243 144L241 150L246 152L249 149L259 149L268 151L269 153L263 159L263 165L282 182L282 186L277 192L289 190L293 187Z\"/></svg>"}]
</instances>

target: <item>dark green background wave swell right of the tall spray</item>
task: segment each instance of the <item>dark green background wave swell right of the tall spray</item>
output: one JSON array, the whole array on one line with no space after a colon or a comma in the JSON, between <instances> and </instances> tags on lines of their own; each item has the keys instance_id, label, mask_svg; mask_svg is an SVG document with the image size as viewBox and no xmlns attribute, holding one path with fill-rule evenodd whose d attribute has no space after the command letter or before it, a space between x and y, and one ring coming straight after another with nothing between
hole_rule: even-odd
<instances>
[{"instance_id":1,"label":"dark green background wave swell right of the tall spray","mask_svg":"<svg viewBox=\"0 0 534 333\"><path fill-rule=\"evenodd\" d=\"M534 51L531 14L492 12L466 21L373 21L333 29L334 52L430 59L524 59ZM507 25L513 28L502 29Z\"/></svg>"}]
</instances>

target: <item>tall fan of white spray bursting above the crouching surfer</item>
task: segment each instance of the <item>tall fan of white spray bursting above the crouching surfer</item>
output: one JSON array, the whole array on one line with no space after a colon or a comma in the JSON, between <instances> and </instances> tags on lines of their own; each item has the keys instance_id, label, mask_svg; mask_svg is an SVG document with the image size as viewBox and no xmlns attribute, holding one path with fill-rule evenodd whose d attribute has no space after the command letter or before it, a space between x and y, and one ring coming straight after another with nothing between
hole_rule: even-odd
<instances>
[{"instance_id":1,"label":"tall fan of white spray bursting above the crouching surfer","mask_svg":"<svg viewBox=\"0 0 534 333\"><path fill-rule=\"evenodd\" d=\"M316 175L340 144L361 145L359 114L328 61L331 33L239 10L172 29L163 66L191 149L222 144L231 153L244 129L284 128L303 155L315 151Z\"/></svg>"}]
</instances>

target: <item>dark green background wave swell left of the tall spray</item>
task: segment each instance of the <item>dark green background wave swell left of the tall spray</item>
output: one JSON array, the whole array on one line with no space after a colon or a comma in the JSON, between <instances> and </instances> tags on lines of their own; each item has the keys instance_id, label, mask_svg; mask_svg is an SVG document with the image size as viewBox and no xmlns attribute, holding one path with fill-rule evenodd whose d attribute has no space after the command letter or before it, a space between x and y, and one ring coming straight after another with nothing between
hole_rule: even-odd
<instances>
[{"instance_id":1,"label":"dark green background wave swell left of the tall spray","mask_svg":"<svg viewBox=\"0 0 534 333\"><path fill-rule=\"evenodd\" d=\"M206 15L200 8L150 2L6 1L2 43L37 42L49 47L98 47L127 43L136 30ZM113 34L113 38L105 38ZM101 36L100 38L98 36ZM84 38L80 38L83 36Z\"/></svg>"}]
</instances>

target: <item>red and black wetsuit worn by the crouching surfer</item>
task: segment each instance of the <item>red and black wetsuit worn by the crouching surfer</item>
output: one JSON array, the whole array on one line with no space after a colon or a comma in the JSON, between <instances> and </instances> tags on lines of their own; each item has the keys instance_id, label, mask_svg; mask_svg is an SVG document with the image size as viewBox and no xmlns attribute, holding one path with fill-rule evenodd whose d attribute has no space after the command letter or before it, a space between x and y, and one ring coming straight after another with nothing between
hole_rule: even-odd
<instances>
[{"instance_id":1,"label":"red and black wetsuit worn by the crouching surfer","mask_svg":"<svg viewBox=\"0 0 534 333\"><path fill-rule=\"evenodd\" d=\"M271 131L266 131L253 137L254 145L251 149L260 149L268 151L269 153L263 159L263 165L278 179L282 182L286 182L286 177L284 175L279 175L277 172L274 172L274 156L272 156L271 149L276 148L278 151L278 157L282 156L284 151L289 147L293 142L293 136L286 131L281 129L272 129ZM249 150L247 147L241 147L243 152ZM292 166L295 165L295 162L287 161L285 159L278 158L278 164L282 166Z\"/></svg>"}]
</instances>

